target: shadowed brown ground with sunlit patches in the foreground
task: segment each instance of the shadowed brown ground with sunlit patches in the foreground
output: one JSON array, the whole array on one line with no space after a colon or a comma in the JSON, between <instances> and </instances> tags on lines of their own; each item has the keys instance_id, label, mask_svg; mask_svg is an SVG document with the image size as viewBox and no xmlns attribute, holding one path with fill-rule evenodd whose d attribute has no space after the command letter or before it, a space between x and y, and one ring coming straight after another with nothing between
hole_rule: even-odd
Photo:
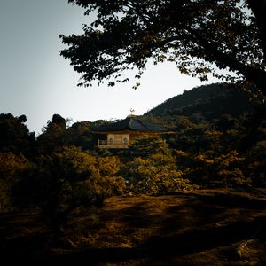
<instances>
[{"instance_id":1,"label":"shadowed brown ground with sunlit patches in the foreground","mask_svg":"<svg viewBox=\"0 0 266 266\"><path fill-rule=\"evenodd\" d=\"M266 265L259 189L113 197L64 228L56 235L38 210L1 214L1 257L6 265Z\"/></svg>"}]
</instances>

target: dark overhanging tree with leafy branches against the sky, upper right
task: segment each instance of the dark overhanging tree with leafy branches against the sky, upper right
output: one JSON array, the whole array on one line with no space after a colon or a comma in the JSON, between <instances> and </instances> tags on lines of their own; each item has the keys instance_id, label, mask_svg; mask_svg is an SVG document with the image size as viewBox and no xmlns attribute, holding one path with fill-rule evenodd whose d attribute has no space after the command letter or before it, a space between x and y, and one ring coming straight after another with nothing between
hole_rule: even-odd
<instances>
[{"instance_id":1,"label":"dark overhanging tree with leafy branches against the sky, upper right","mask_svg":"<svg viewBox=\"0 0 266 266\"><path fill-rule=\"evenodd\" d=\"M68 0L97 12L83 35L60 35L69 45L61 55L82 73L79 85L128 81L153 63L173 61L183 74L207 80L253 84L266 95L266 2L262 0ZM232 74L219 74L219 69Z\"/></svg>"}]
</instances>

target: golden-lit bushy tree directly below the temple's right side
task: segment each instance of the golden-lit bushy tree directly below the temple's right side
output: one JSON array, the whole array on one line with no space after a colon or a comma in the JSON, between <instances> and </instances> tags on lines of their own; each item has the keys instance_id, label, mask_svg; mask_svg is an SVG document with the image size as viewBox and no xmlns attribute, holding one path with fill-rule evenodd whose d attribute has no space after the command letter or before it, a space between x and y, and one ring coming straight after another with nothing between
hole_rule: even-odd
<instances>
[{"instance_id":1,"label":"golden-lit bushy tree directly below the temple's right side","mask_svg":"<svg viewBox=\"0 0 266 266\"><path fill-rule=\"evenodd\" d=\"M130 192L166 194L192 189L176 166L168 145L160 137L139 137L130 150L133 158L121 169Z\"/></svg>"}]
</instances>

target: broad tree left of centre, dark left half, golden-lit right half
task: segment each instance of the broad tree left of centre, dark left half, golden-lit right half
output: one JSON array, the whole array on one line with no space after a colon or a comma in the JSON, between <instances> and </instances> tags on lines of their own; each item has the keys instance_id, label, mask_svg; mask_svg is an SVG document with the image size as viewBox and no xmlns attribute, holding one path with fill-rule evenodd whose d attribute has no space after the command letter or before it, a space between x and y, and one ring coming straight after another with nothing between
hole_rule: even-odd
<instances>
[{"instance_id":1,"label":"broad tree left of centre, dark left half, golden-lit right half","mask_svg":"<svg viewBox=\"0 0 266 266\"><path fill-rule=\"evenodd\" d=\"M17 206L41 207L53 229L61 231L77 208L100 207L106 197L123 192L118 170L115 157L98 158L74 145L63 146L36 158L34 174L20 178L13 197Z\"/></svg>"}]
</instances>

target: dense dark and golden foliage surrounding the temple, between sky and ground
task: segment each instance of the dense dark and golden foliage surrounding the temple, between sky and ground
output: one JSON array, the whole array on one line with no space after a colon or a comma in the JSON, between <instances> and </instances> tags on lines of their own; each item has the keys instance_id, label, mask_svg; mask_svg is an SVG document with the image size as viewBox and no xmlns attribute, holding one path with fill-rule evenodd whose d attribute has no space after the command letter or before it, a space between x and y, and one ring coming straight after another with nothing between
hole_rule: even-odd
<instances>
[{"instance_id":1,"label":"dense dark and golden foliage surrounding the temple, between sky and ground","mask_svg":"<svg viewBox=\"0 0 266 266\"><path fill-rule=\"evenodd\" d=\"M210 87L184 92L146 113L140 119L172 131L136 138L123 151L97 148L92 129L105 121L69 126L54 114L35 137L24 115L1 114L0 211L38 207L59 230L74 212L100 207L113 195L265 186L265 107L242 96L226 107L230 90ZM218 100L220 106L212 105Z\"/></svg>"}]
</instances>

